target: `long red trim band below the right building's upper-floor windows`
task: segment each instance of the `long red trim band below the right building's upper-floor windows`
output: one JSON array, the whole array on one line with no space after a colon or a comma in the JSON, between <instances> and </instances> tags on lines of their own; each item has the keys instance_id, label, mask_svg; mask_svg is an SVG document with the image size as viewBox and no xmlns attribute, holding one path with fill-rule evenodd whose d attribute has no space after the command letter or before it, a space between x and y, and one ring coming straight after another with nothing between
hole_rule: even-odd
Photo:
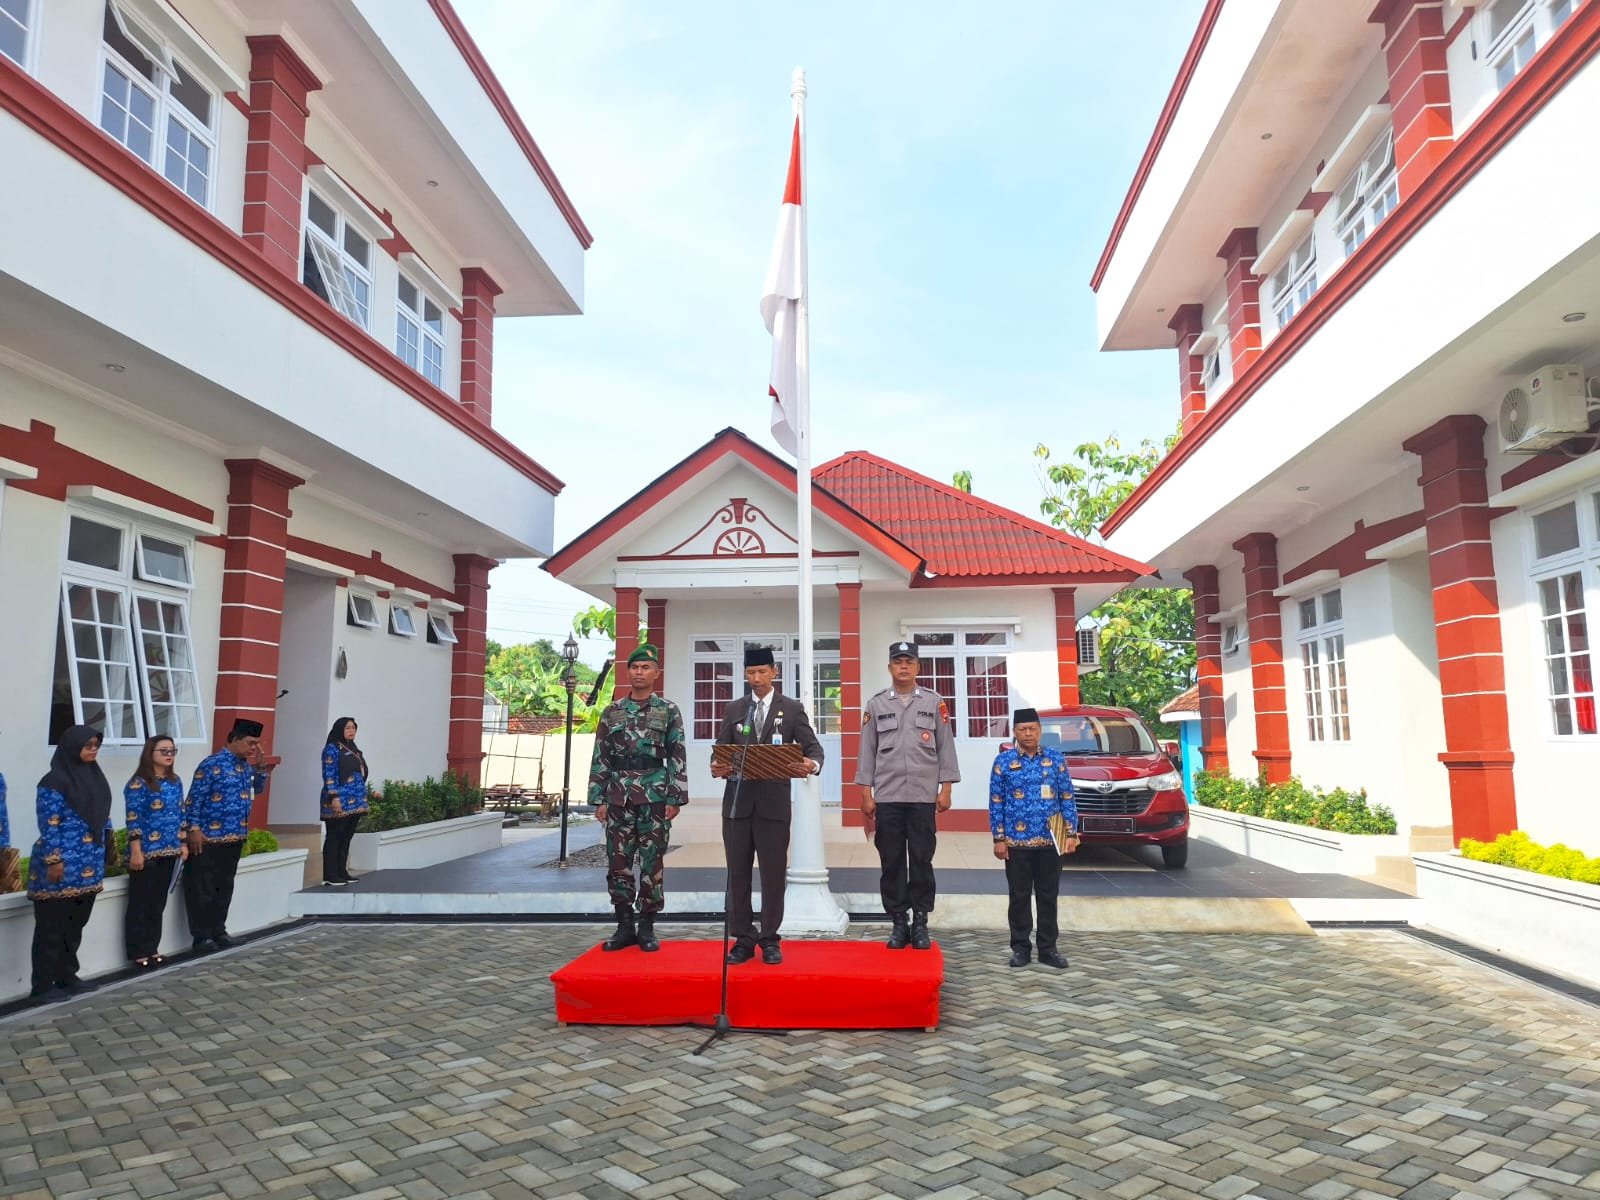
<instances>
[{"instance_id":1,"label":"long red trim band below the right building's upper-floor windows","mask_svg":"<svg viewBox=\"0 0 1600 1200\"><path fill-rule=\"evenodd\" d=\"M1101 534L1110 536L1162 486L1222 424L1237 413L1250 397L1278 373L1278 368L1299 350L1312 334L1349 302L1352 296L1394 256L1400 246L1416 237L1422 226L1454 195L1464 189L1483 166L1517 136L1557 91L1576 75L1584 64L1600 51L1600 5L1584 5L1568 18L1494 99L1493 106L1467 130L1450 152L1438 162L1422 186L1400 200L1395 211L1373 230L1371 237L1344 261L1344 266L1328 280L1290 326L1280 333L1261 357L1234 381L1214 408L1173 446L1149 475L1133 490L1133 494L1106 523Z\"/></svg>"}]
</instances>

